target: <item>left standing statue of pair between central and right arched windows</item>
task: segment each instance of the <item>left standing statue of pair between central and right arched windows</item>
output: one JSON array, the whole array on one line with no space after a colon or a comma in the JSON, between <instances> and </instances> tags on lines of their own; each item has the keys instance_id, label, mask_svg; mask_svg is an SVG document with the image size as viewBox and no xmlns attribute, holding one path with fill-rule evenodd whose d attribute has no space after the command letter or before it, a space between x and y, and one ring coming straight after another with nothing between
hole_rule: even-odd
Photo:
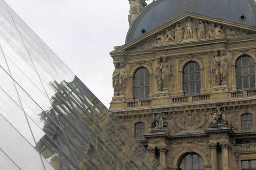
<instances>
[{"instance_id":1,"label":"left standing statue of pair between central and right arched windows","mask_svg":"<svg viewBox=\"0 0 256 170\"><path fill-rule=\"evenodd\" d=\"M213 72L214 75L215 85L220 85L220 59L217 51L214 52L211 71Z\"/></svg>"}]
</instances>

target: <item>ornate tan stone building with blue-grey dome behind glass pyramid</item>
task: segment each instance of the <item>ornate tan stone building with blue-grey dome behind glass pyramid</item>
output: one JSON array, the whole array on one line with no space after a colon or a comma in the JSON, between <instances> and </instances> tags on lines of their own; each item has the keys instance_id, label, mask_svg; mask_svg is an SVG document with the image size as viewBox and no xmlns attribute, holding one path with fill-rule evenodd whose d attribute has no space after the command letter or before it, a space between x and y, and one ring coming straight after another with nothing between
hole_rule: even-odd
<instances>
[{"instance_id":1,"label":"ornate tan stone building with blue-grey dome behind glass pyramid","mask_svg":"<svg viewBox=\"0 0 256 170\"><path fill-rule=\"evenodd\" d=\"M255 11L157 0L110 53L110 111L166 169L256 170Z\"/></svg>"}]
</instances>

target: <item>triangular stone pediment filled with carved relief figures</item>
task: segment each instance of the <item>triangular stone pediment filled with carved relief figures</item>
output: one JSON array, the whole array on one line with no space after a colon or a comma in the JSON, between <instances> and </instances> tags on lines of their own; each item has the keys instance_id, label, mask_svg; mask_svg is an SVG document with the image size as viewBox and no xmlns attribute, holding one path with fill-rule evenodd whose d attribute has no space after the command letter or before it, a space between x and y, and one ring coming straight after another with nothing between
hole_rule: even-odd
<instances>
[{"instance_id":1,"label":"triangular stone pediment filled with carved relief figures","mask_svg":"<svg viewBox=\"0 0 256 170\"><path fill-rule=\"evenodd\" d=\"M256 34L256 28L209 17L186 14L145 34L118 50L145 50L166 44L200 41L218 37L242 37Z\"/></svg>"}]
</instances>

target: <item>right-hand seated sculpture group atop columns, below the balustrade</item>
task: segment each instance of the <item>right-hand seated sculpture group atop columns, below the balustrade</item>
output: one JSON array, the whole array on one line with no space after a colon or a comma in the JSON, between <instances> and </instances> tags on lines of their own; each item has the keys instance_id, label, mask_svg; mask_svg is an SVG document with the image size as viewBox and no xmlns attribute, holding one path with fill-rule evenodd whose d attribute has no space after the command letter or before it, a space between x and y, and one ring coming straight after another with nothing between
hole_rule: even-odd
<instances>
[{"instance_id":1,"label":"right-hand seated sculpture group atop columns, below the balustrade","mask_svg":"<svg viewBox=\"0 0 256 170\"><path fill-rule=\"evenodd\" d=\"M218 105L217 108L213 110L213 121L211 122L211 125L228 124L228 121L225 120L226 107L224 107L224 109L221 108L222 106Z\"/></svg>"}]
</instances>

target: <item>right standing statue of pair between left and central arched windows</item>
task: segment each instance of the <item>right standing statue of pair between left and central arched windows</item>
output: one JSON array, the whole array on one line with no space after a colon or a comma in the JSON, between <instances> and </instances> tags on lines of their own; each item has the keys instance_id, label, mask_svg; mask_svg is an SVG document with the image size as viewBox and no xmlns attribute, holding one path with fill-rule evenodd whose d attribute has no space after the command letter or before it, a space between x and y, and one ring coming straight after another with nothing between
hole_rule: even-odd
<instances>
[{"instance_id":1,"label":"right standing statue of pair between left and central arched windows","mask_svg":"<svg viewBox=\"0 0 256 170\"><path fill-rule=\"evenodd\" d=\"M163 90L168 90L168 85L169 85L169 76L171 75L171 71L169 69L168 65L168 58L164 57L163 62L160 67L162 71L162 87Z\"/></svg>"}]
</instances>

